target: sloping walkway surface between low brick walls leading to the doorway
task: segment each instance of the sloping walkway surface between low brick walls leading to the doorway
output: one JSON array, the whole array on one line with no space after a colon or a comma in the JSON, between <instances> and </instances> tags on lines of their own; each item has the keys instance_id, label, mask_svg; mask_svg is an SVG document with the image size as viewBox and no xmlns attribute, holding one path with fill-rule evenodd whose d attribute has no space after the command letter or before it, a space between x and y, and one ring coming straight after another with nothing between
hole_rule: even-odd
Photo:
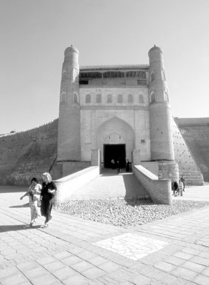
<instances>
[{"instance_id":1,"label":"sloping walkway surface between low brick walls leading to the doorway","mask_svg":"<svg viewBox=\"0 0 209 285\"><path fill-rule=\"evenodd\" d=\"M132 172L104 168L100 176L77 191L70 199L147 199L148 192Z\"/></svg>"}]
</instances>

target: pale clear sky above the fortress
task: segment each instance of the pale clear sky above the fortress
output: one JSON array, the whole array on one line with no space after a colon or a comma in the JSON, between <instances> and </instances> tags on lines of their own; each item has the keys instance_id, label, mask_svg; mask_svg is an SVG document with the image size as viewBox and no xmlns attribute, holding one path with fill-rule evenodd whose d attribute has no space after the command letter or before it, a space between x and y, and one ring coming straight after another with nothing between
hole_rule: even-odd
<instances>
[{"instance_id":1,"label":"pale clear sky above the fortress","mask_svg":"<svg viewBox=\"0 0 209 285\"><path fill-rule=\"evenodd\" d=\"M0 134L58 118L65 48L80 66L149 63L156 44L172 114L209 117L208 0L0 0Z\"/></svg>"}]
</instances>

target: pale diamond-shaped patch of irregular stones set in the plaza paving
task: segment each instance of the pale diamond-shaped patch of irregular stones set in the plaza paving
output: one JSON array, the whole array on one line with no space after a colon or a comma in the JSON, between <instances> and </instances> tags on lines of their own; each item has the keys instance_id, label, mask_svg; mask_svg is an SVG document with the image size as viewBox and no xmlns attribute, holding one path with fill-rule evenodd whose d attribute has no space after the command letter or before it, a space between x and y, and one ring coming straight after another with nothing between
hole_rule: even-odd
<instances>
[{"instance_id":1,"label":"pale diamond-shaped patch of irregular stones set in the plaza paving","mask_svg":"<svg viewBox=\"0 0 209 285\"><path fill-rule=\"evenodd\" d=\"M124 257L128 257L129 259L138 260L159 249L163 249L168 245L168 242L127 233L110 239L104 239L94 244L103 249L108 249L111 252L116 252Z\"/></svg>"}]
</instances>

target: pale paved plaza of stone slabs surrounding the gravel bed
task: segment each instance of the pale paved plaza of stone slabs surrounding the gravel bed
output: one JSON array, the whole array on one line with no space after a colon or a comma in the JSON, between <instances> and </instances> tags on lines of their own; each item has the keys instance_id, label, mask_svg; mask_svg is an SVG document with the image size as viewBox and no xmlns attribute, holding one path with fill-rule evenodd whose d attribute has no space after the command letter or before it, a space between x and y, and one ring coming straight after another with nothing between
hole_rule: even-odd
<instances>
[{"instance_id":1,"label":"pale paved plaza of stone slabs surrounding the gravel bed","mask_svg":"<svg viewBox=\"0 0 209 285\"><path fill-rule=\"evenodd\" d=\"M22 194L0 187L2 285L209 284L209 206L129 229L53 210L50 227L41 229L43 218L26 227ZM209 201L209 186L174 199Z\"/></svg>"}]
</instances>

